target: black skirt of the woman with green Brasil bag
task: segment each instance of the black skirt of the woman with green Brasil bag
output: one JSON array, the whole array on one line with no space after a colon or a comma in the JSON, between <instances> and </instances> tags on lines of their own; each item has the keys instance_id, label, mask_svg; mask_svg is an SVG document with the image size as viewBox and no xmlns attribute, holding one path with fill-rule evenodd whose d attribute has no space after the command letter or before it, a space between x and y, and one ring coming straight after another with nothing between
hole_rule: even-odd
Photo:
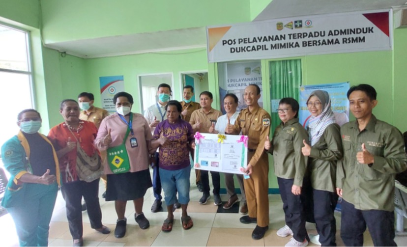
<instances>
[{"instance_id":1,"label":"black skirt of the woman with green Brasil bag","mask_svg":"<svg viewBox=\"0 0 407 247\"><path fill-rule=\"evenodd\" d=\"M150 171L125 172L107 175L106 201L136 200L152 187Z\"/></svg>"}]
</instances>

